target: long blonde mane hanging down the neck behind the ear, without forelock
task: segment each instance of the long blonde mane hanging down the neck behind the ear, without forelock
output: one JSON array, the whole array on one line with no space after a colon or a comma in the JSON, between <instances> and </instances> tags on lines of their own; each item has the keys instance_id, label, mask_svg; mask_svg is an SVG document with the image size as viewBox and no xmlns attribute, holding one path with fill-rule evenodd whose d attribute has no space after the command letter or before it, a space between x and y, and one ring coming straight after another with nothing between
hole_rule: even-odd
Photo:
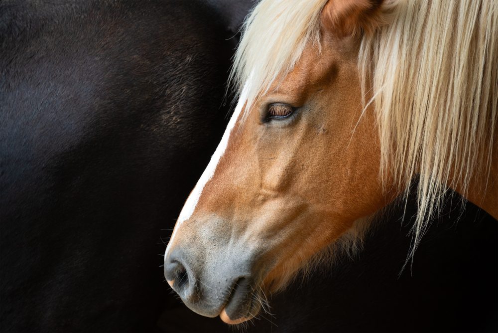
<instances>
[{"instance_id":1,"label":"long blonde mane hanging down the neck behind the ear, without forelock","mask_svg":"<svg viewBox=\"0 0 498 333\"><path fill-rule=\"evenodd\" d=\"M490 174L498 3L399 1L390 24L363 37L359 69L364 87L373 75L383 175L408 191L419 174L412 256L447 186L465 195L475 172Z\"/></svg>"}]
</instances>

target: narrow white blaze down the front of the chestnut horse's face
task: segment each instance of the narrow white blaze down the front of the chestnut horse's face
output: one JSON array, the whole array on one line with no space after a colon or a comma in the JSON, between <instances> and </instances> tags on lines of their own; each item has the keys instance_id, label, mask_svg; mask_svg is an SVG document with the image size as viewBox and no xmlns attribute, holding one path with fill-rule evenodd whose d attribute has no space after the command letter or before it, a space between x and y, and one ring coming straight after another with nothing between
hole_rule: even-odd
<instances>
[{"instance_id":1,"label":"narrow white blaze down the front of the chestnut horse's face","mask_svg":"<svg viewBox=\"0 0 498 333\"><path fill-rule=\"evenodd\" d=\"M239 119L239 116L242 112L242 108L244 107L244 104L246 103L247 99L247 91L248 91L248 84L244 86L244 89L242 90L242 94L239 98L239 102L237 103L237 107L235 108L234 114L232 115L232 118L230 118L230 122L228 123L227 129L225 130L225 133L223 134L223 137L221 138L220 144L216 148L215 153L211 157L211 160L209 161L208 166L206 166L206 169L204 172L202 172L201 177L197 181L197 184L195 185L194 189L192 192L190 192L190 195L185 202L185 205L182 208L182 211L180 212L180 216L178 217L178 220L176 221L175 229L173 230L173 234L171 235L171 239L169 240L168 246L166 248L166 252L164 254L164 260L167 258L167 253L169 250L169 244L173 243L173 238L175 237L176 231L180 227L180 225L188 220L190 216L194 213L195 207L197 206L197 203L199 202L199 198L201 197L202 190L204 189L204 186L207 184L207 182L213 177L216 166L218 166L218 163L220 162L221 157L225 153L225 150L227 149L228 146L228 140L230 138L230 134L232 133L232 129L235 127L235 123L237 123L237 119Z\"/></svg>"}]
</instances>

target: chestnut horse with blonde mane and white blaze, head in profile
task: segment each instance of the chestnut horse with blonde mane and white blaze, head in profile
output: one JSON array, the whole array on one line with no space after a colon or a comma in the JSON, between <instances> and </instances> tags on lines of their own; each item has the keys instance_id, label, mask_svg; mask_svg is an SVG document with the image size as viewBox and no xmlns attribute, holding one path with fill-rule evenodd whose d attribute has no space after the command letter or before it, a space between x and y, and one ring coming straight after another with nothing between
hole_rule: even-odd
<instances>
[{"instance_id":1,"label":"chestnut horse with blonde mane and white blaze, head in profile","mask_svg":"<svg viewBox=\"0 0 498 333\"><path fill-rule=\"evenodd\" d=\"M497 219L497 38L493 1L262 0L231 72L238 105L165 251L168 284L236 325L296 272L354 252L412 186L406 263L449 189Z\"/></svg>"}]
</instances>

